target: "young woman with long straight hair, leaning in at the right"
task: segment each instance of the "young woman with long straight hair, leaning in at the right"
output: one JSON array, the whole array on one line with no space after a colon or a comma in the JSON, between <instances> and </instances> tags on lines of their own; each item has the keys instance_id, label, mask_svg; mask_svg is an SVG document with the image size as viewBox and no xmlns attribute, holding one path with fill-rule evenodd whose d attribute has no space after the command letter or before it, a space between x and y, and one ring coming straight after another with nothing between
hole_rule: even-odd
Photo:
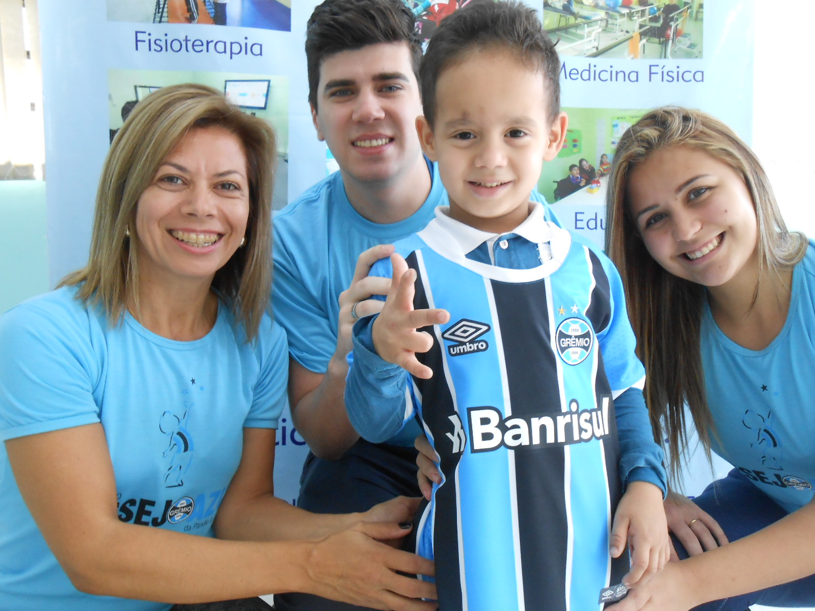
<instances>
[{"instance_id":1,"label":"young woman with long straight hair, leaning in at the right","mask_svg":"<svg viewBox=\"0 0 815 611\"><path fill-rule=\"evenodd\" d=\"M692 557L612 609L815 606L815 244L786 230L756 156L703 112L632 125L607 197L606 252L672 471L685 405L704 448L736 467L693 502L669 496L676 552Z\"/></svg>"}]
</instances>

